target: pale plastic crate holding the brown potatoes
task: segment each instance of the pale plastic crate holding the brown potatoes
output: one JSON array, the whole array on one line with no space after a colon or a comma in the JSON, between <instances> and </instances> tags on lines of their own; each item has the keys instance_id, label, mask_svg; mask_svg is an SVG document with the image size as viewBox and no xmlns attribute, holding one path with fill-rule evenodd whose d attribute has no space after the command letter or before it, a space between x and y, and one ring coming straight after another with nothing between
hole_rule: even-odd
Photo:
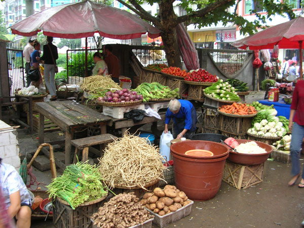
<instances>
[{"instance_id":1,"label":"pale plastic crate holding the brown potatoes","mask_svg":"<svg viewBox=\"0 0 304 228\"><path fill-rule=\"evenodd\" d=\"M191 213L192 205L193 205L193 201L191 201L191 203L187 204L186 206L179 208L177 211L171 212L163 216L160 216L159 214L154 213L153 211L147 208L146 210L148 210L151 214L154 215L153 223L157 224L162 228L169 225L172 222L175 222L183 217L188 216Z\"/></svg>"}]
</instances>

